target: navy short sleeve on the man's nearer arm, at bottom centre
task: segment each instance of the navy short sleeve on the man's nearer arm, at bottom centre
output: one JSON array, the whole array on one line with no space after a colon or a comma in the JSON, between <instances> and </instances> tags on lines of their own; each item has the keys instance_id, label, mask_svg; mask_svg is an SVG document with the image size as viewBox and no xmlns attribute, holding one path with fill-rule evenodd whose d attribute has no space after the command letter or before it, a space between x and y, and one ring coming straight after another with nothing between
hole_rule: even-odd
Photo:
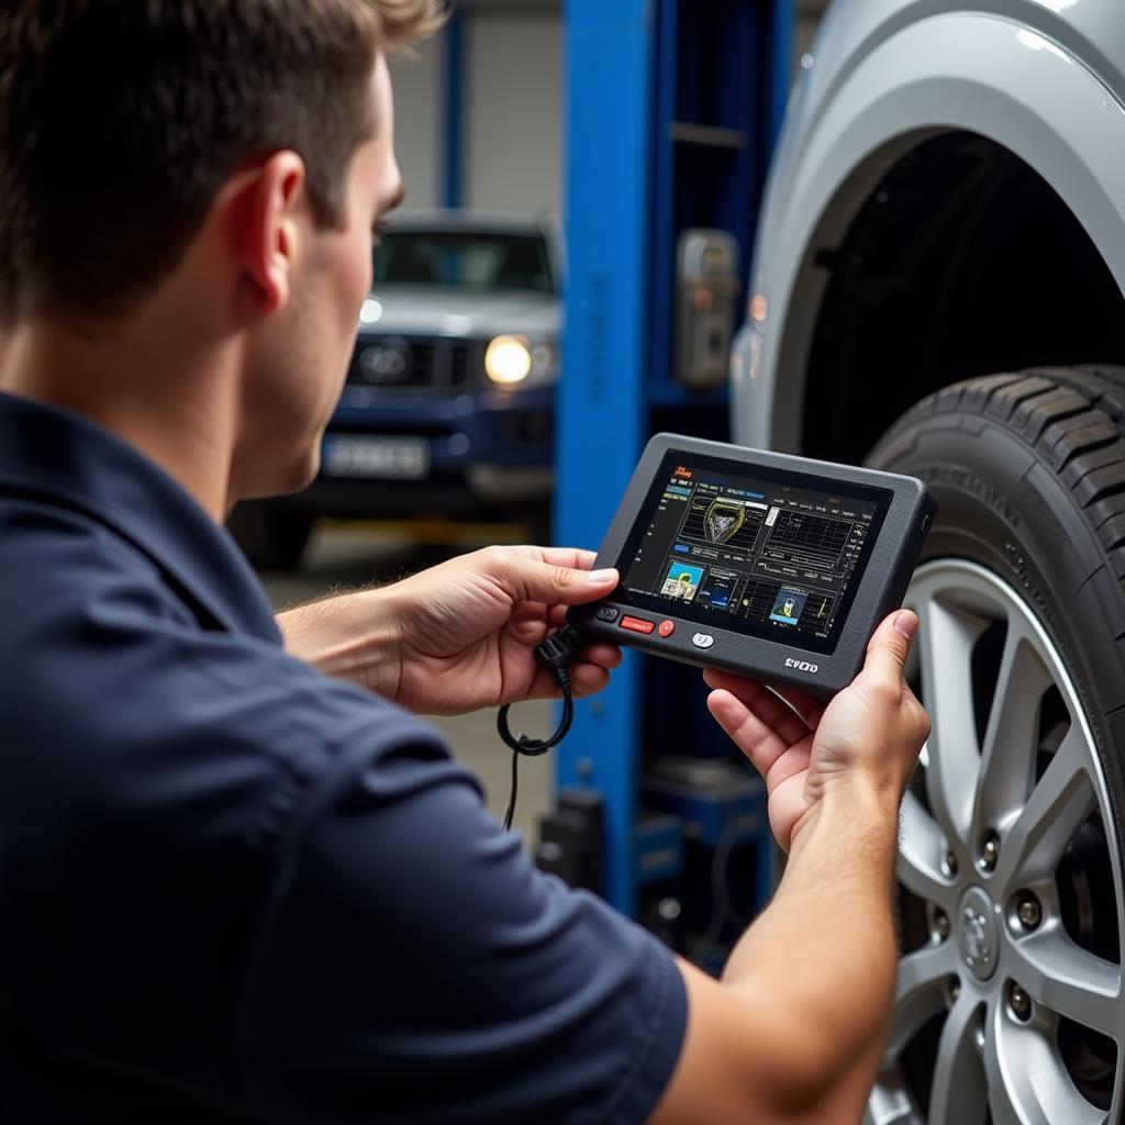
<instances>
[{"instance_id":1,"label":"navy short sleeve on the man's nearer arm, at bottom centre","mask_svg":"<svg viewBox=\"0 0 1125 1125\"><path fill-rule=\"evenodd\" d=\"M420 723L287 842L237 1055L270 1122L642 1122L684 986L650 934L539 872Z\"/></svg>"}]
</instances>

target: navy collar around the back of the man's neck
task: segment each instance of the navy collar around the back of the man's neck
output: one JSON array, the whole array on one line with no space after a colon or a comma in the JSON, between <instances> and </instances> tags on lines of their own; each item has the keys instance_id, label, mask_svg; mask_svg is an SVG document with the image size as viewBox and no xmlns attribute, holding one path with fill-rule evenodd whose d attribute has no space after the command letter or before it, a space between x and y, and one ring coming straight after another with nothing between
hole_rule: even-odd
<instances>
[{"instance_id":1,"label":"navy collar around the back of the man's neck","mask_svg":"<svg viewBox=\"0 0 1125 1125\"><path fill-rule=\"evenodd\" d=\"M0 494L75 508L146 555L204 623L280 644L230 534L159 466L73 411L0 392Z\"/></svg>"}]
</instances>

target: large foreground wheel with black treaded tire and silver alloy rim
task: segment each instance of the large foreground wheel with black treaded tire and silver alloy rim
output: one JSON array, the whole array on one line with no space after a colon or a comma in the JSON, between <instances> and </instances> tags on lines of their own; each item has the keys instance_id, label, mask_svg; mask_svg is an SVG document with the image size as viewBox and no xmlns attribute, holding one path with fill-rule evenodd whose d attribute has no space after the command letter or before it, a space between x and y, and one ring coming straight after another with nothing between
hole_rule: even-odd
<instances>
[{"instance_id":1,"label":"large foreground wheel with black treaded tire and silver alloy rim","mask_svg":"<svg viewBox=\"0 0 1125 1125\"><path fill-rule=\"evenodd\" d=\"M870 1125L1122 1119L1123 434L1125 370L1036 369L937 392L868 458L939 505Z\"/></svg>"}]
</instances>

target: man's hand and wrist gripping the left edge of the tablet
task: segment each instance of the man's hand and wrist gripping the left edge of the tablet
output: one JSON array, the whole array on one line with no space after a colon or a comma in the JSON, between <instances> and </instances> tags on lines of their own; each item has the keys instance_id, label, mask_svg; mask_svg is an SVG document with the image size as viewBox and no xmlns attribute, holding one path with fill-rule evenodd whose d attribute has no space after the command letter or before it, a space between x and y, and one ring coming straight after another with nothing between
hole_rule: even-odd
<instances>
[{"instance_id":1,"label":"man's hand and wrist gripping the left edge of the tablet","mask_svg":"<svg viewBox=\"0 0 1125 1125\"><path fill-rule=\"evenodd\" d=\"M489 547L393 586L345 594L279 618L290 651L426 714L559 694L534 657L568 605L610 594L616 570L593 551ZM570 666L575 695L601 691L621 663L597 642Z\"/></svg>"}]
</instances>

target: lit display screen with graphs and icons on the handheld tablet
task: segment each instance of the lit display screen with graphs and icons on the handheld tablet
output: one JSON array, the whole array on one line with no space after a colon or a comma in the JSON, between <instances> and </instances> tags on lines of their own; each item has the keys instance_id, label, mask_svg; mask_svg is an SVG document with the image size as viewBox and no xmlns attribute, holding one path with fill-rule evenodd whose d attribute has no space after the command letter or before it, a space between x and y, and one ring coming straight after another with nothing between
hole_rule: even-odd
<instances>
[{"instance_id":1,"label":"lit display screen with graphs and icons on the handheld tablet","mask_svg":"<svg viewBox=\"0 0 1125 1125\"><path fill-rule=\"evenodd\" d=\"M891 495L673 452L619 562L619 597L831 652Z\"/></svg>"}]
</instances>

